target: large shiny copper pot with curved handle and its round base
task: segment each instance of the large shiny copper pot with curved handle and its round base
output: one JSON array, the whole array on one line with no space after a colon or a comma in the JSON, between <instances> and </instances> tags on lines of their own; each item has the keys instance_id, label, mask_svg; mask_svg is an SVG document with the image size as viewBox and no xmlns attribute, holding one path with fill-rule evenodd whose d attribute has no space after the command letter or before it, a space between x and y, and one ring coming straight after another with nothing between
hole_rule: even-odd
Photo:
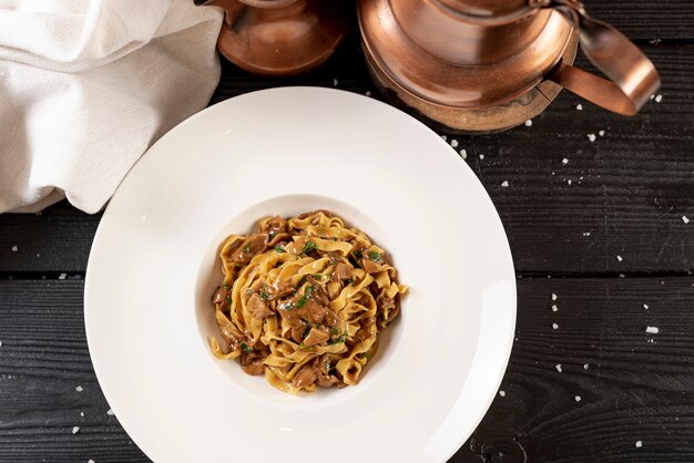
<instances>
[{"instance_id":1,"label":"large shiny copper pot with curved handle and its round base","mask_svg":"<svg viewBox=\"0 0 694 463\"><path fill-rule=\"evenodd\" d=\"M575 0L360 0L379 86L461 132L493 132L542 112L565 88L633 115L660 86L655 68ZM578 39L576 39L578 35ZM572 65L576 42L608 79Z\"/></svg>"}]
</instances>

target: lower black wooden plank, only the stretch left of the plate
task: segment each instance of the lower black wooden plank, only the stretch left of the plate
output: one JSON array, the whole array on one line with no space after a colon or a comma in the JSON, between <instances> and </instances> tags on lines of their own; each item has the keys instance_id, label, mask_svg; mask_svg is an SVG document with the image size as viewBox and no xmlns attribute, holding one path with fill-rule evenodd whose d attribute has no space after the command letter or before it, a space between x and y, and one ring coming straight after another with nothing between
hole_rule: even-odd
<instances>
[{"instance_id":1,"label":"lower black wooden plank, only the stretch left of the plate","mask_svg":"<svg viewBox=\"0 0 694 463\"><path fill-rule=\"evenodd\" d=\"M82 292L79 280L0 281L0 461L147 461L109 414Z\"/></svg>"}]
</instances>

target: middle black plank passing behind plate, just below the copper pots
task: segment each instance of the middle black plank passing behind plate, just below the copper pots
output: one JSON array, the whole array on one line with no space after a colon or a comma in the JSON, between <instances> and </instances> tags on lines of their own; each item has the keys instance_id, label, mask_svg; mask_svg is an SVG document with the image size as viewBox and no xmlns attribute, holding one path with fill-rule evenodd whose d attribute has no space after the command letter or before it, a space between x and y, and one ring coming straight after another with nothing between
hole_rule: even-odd
<instances>
[{"instance_id":1,"label":"middle black plank passing behind plate, just below the copper pots","mask_svg":"<svg viewBox=\"0 0 694 463\"><path fill-rule=\"evenodd\" d=\"M492 197L520 272L694 267L694 223L683 222L694 219L694 45L645 49L663 75L663 100L636 117L616 116L563 92L530 127L491 136L446 134L459 143L458 151L466 150L468 165ZM316 73L290 80L251 78L225 64L214 101L282 84L333 86L334 79L340 89L378 96L358 44L347 43L340 53ZM583 111L575 110L579 103ZM83 272L98 222L99 215L64 204L42 216L0 215L0 272L49 278Z\"/></svg>"}]
</instances>

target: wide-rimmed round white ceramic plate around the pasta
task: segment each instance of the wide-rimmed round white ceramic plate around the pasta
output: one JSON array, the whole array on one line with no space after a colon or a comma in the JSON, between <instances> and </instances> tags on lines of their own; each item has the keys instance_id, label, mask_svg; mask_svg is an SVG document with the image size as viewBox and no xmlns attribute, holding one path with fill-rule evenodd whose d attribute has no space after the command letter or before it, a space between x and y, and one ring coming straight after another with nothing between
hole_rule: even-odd
<instances>
[{"instance_id":1,"label":"wide-rimmed round white ceramic plate around the pasta","mask_svg":"<svg viewBox=\"0 0 694 463\"><path fill-rule=\"evenodd\" d=\"M227 234L318 208L386 248L410 294L357 387L296 397L211 354L210 297ZM516 281L491 200L437 134L365 96L287 88L150 148L101 220L84 306L99 382L156 462L442 462L497 392Z\"/></svg>"}]
</instances>

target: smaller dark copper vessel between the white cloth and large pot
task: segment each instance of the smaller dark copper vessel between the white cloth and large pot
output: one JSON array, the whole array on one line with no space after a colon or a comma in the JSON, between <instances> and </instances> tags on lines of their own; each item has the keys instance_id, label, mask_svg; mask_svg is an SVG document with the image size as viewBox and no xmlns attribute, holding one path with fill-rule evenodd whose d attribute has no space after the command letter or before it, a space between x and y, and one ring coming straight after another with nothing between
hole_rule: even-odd
<instances>
[{"instance_id":1,"label":"smaller dark copper vessel between the white cloth and large pot","mask_svg":"<svg viewBox=\"0 0 694 463\"><path fill-rule=\"evenodd\" d=\"M345 38L344 0L208 0L224 9L217 49L246 71L293 75L325 62Z\"/></svg>"}]
</instances>

